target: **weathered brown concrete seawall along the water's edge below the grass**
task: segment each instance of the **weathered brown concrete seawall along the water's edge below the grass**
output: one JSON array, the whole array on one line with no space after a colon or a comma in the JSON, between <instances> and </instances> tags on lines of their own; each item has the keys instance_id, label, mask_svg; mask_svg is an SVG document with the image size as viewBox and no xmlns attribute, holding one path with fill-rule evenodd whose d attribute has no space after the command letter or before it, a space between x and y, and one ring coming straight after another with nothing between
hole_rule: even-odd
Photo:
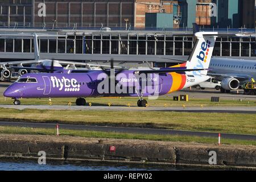
<instances>
[{"instance_id":1,"label":"weathered brown concrete seawall along the water's edge below the grass","mask_svg":"<svg viewBox=\"0 0 256 182\"><path fill-rule=\"evenodd\" d=\"M115 151L110 151L110 146L114 146ZM255 146L0 134L0 158L38 159L39 151L46 152L47 160L96 160L256 170ZM216 164L210 166L209 159L213 163L216 159Z\"/></svg>"}]
</instances>

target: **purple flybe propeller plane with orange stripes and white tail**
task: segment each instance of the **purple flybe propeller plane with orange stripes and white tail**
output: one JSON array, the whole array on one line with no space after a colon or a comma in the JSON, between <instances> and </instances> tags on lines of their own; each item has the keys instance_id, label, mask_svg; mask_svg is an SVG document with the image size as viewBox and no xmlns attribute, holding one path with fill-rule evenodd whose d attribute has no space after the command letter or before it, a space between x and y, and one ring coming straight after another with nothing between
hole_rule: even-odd
<instances>
[{"instance_id":1,"label":"purple flybe propeller plane with orange stripes and white tail","mask_svg":"<svg viewBox=\"0 0 256 182\"><path fill-rule=\"evenodd\" d=\"M6 89L3 95L19 98L75 97L76 105L86 97L138 97L139 107L147 106L143 97L157 97L189 88L209 79L207 76L217 32L197 32L196 44L186 63L170 68L136 70L68 70L50 68L48 73L28 73ZM48 68L46 68L48 69Z\"/></svg>"}]
</instances>

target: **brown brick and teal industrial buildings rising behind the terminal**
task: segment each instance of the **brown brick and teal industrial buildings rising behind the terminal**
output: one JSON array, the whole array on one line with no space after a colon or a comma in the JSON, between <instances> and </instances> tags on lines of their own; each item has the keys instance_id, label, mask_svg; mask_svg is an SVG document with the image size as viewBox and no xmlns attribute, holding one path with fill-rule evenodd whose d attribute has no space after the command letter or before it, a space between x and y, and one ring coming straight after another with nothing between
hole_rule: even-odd
<instances>
[{"instance_id":1,"label":"brown brick and teal industrial buildings rising behind the terminal","mask_svg":"<svg viewBox=\"0 0 256 182\"><path fill-rule=\"evenodd\" d=\"M209 14L211 3L216 16ZM2 0L0 26L144 28L146 13L167 13L174 28L191 28L195 22L255 28L254 5L255 0Z\"/></svg>"}]
</instances>

